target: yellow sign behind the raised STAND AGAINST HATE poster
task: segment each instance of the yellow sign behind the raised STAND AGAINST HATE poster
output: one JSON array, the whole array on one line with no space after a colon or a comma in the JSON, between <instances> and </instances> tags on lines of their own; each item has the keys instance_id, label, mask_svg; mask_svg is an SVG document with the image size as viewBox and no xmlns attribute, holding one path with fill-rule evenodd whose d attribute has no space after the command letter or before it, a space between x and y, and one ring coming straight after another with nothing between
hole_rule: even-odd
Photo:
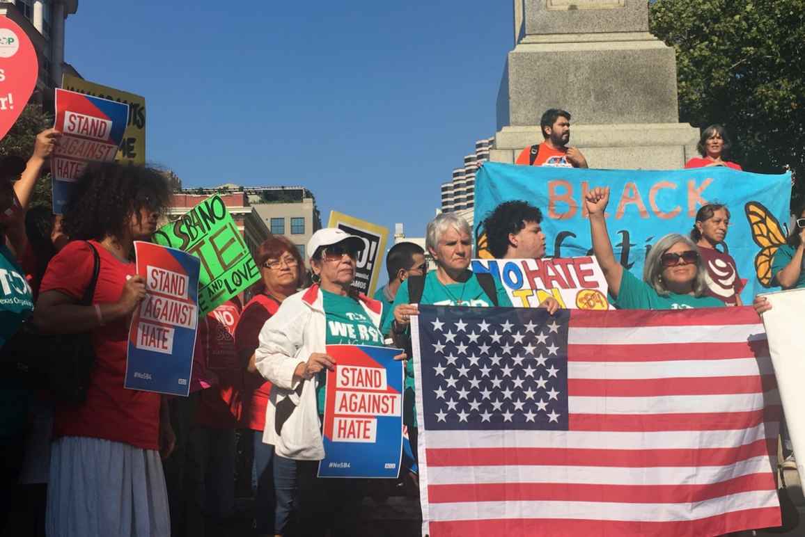
<instances>
[{"instance_id":1,"label":"yellow sign behind the raised STAND AGAINST HATE poster","mask_svg":"<svg viewBox=\"0 0 805 537\"><path fill-rule=\"evenodd\" d=\"M62 77L61 87L71 92L117 100L119 103L129 105L129 123L126 126L126 132L123 133L123 141L115 160L134 162L134 164L146 163L146 100L144 97L70 75Z\"/></svg>"}]
</instances>

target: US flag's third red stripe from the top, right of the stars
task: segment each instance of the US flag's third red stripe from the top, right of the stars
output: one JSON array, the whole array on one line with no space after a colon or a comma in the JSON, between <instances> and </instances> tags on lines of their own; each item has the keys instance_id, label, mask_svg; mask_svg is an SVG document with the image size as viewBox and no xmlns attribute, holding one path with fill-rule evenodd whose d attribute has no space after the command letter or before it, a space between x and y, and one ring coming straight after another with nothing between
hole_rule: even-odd
<instances>
[{"instance_id":1,"label":"US flag's third red stripe from the top, right of the stars","mask_svg":"<svg viewBox=\"0 0 805 537\"><path fill-rule=\"evenodd\" d=\"M568 396L715 396L763 393L776 387L774 375L675 379L568 379Z\"/></svg>"}]
</instances>

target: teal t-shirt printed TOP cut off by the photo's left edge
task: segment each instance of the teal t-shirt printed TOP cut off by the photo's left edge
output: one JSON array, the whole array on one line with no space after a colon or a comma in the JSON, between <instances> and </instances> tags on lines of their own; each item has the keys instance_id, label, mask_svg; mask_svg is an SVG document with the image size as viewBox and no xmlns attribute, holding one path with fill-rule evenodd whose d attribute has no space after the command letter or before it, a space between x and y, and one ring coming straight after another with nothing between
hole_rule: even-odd
<instances>
[{"instance_id":1,"label":"teal t-shirt printed TOP cut off by the photo's left edge","mask_svg":"<svg viewBox=\"0 0 805 537\"><path fill-rule=\"evenodd\" d=\"M0 244L0 347L34 310L31 286L14 256ZM17 379L0 379L0 437L13 437L25 427L28 391Z\"/></svg>"}]
</instances>

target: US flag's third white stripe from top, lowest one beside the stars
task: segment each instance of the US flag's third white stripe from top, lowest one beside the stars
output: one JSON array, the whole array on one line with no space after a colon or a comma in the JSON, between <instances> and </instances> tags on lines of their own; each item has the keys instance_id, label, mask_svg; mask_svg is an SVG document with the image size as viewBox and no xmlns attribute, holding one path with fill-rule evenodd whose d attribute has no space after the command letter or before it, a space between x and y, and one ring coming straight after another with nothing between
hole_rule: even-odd
<instances>
[{"instance_id":1,"label":"US flag's third white stripe from top, lowest one beside the stars","mask_svg":"<svg viewBox=\"0 0 805 537\"><path fill-rule=\"evenodd\" d=\"M777 390L710 396L568 397L571 414L685 414L751 412L779 404Z\"/></svg>"}]
</instances>

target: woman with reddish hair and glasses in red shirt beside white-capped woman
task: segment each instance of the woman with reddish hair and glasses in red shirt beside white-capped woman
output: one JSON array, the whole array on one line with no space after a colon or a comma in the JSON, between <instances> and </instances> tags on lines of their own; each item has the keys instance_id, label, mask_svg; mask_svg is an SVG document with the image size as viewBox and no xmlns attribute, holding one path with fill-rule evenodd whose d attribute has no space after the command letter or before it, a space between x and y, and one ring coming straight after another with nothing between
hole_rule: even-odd
<instances>
[{"instance_id":1,"label":"woman with reddish hair and glasses in red shirt beside white-capped woman","mask_svg":"<svg viewBox=\"0 0 805 537\"><path fill-rule=\"evenodd\" d=\"M275 482L274 446L262 441L271 383L254 367L258 335L279 304L302 287L304 263L299 250L283 236L270 236L258 248L254 262L262 280L254 285L254 298L246 304L235 329L235 346L246 367L242 420L254 435L252 486L255 494L255 529L258 535L283 535L291 518L292 483L280 472ZM295 469L290 469L295 471Z\"/></svg>"}]
</instances>

